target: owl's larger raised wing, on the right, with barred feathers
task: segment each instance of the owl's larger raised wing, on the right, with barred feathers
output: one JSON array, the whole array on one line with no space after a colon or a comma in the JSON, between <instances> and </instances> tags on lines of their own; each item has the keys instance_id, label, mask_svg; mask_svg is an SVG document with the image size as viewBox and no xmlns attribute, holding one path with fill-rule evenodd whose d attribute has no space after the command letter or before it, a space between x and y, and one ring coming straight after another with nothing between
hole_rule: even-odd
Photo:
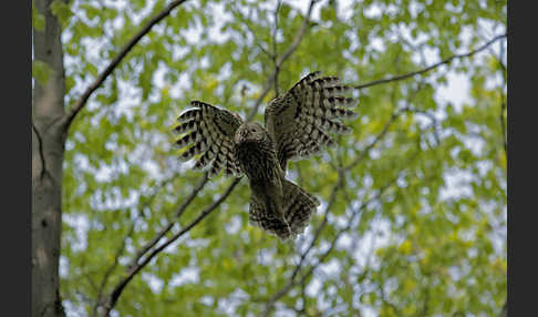
<instances>
[{"instance_id":1,"label":"owl's larger raised wing, on the right, with barred feathers","mask_svg":"<svg viewBox=\"0 0 538 317\"><path fill-rule=\"evenodd\" d=\"M284 171L288 160L317 154L324 146L334 145L328 132L351 132L341 122L356 115L346 109L356 104L355 99L343 96L351 88L342 85L335 76L319 78L320 73L308 74L266 109L266 129L275 139Z\"/></svg>"}]
</instances>

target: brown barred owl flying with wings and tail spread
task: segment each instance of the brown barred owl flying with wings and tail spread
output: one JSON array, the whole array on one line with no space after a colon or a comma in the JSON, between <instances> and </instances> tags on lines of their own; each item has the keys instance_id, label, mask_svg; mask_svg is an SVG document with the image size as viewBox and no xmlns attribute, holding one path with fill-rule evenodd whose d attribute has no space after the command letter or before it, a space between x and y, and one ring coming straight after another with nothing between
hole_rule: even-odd
<instances>
[{"instance_id":1,"label":"brown barred owl flying with wings and tail spread","mask_svg":"<svg viewBox=\"0 0 538 317\"><path fill-rule=\"evenodd\" d=\"M193 101L194 108L177 119L175 132L185 134L176 145L192 145L180 154L190 160L201 154L195 170L209 177L247 175L251 188L249 221L282 241L301 234L319 206L317 197L286 180L288 160L299 160L335 144L328 134L351 129L341 120L354 117L355 100L335 76L313 72L266 108L263 123L244 122L226 109Z\"/></svg>"}]
</instances>

